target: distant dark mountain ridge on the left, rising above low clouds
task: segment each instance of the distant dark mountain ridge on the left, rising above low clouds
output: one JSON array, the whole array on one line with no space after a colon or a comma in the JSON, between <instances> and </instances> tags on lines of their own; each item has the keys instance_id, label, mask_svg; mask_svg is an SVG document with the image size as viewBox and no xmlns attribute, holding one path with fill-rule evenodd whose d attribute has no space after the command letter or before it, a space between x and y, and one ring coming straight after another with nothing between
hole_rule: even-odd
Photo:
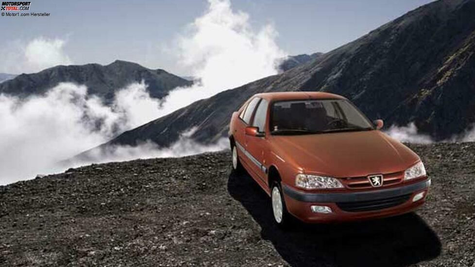
<instances>
[{"instance_id":1,"label":"distant dark mountain ridge on the left, rising above low clouds","mask_svg":"<svg viewBox=\"0 0 475 267\"><path fill-rule=\"evenodd\" d=\"M72 82L86 85L88 94L97 95L107 103L113 100L116 90L142 80L148 85L153 98L162 98L177 86L192 84L163 69L149 69L136 63L117 60L106 66L99 64L56 66L38 73L23 73L12 80L0 83L0 93L27 97L45 93L58 83Z\"/></svg>"}]
</instances>

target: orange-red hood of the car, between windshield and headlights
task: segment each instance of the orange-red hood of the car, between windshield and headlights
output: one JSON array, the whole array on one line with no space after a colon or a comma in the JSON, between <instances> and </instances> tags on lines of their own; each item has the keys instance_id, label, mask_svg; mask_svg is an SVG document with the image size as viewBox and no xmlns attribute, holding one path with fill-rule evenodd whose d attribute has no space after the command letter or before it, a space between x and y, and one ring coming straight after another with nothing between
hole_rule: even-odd
<instances>
[{"instance_id":1,"label":"orange-red hood of the car, between windshield and headlights","mask_svg":"<svg viewBox=\"0 0 475 267\"><path fill-rule=\"evenodd\" d=\"M380 131L273 135L280 157L307 173L359 177L399 172L419 156Z\"/></svg>"}]
</instances>

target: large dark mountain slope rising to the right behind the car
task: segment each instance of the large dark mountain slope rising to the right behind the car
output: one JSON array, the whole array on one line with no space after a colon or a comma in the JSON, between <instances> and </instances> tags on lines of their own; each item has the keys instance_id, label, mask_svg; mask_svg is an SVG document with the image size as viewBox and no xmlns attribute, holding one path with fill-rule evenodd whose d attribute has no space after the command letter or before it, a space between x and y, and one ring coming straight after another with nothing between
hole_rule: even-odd
<instances>
[{"instance_id":1,"label":"large dark mountain slope rising to the right behind the car","mask_svg":"<svg viewBox=\"0 0 475 267\"><path fill-rule=\"evenodd\" d=\"M325 91L353 101L386 125L414 122L436 140L475 122L475 0L440 0L419 7L355 41L291 68L127 131L109 145L152 140L169 146L191 138L225 137L229 119L250 96L270 91Z\"/></svg>"}]
</instances>

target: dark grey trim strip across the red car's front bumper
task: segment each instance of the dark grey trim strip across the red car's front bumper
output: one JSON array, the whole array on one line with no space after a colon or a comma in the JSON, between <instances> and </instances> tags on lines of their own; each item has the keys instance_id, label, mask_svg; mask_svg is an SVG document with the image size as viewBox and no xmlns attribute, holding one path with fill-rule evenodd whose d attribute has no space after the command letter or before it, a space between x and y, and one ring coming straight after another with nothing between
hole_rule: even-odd
<instances>
[{"instance_id":1,"label":"dark grey trim strip across the red car's front bumper","mask_svg":"<svg viewBox=\"0 0 475 267\"><path fill-rule=\"evenodd\" d=\"M282 189L284 190L284 194L286 194L288 197L302 202L355 202L386 199L407 195L429 187L430 183L430 179L427 179L416 184L409 184L396 188L348 193L305 193L302 191L297 191L286 184L283 184Z\"/></svg>"}]
</instances>

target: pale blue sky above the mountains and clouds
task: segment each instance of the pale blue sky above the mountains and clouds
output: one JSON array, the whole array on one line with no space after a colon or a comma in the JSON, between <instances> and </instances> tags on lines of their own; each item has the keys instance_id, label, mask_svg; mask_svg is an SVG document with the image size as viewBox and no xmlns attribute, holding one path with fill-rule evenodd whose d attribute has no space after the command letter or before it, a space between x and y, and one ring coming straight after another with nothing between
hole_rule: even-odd
<instances>
[{"instance_id":1,"label":"pale blue sky above the mountains and clouds","mask_svg":"<svg viewBox=\"0 0 475 267\"><path fill-rule=\"evenodd\" d=\"M249 15L254 29L273 25L279 48L299 54L335 49L428 2L231 0L231 5ZM200 0L33 0L32 12L48 12L51 17L0 17L2 43L60 38L74 64L123 59L185 75L164 50L173 48L178 34L184 34L207 6Z\"/></svg>"}]
</instances>

